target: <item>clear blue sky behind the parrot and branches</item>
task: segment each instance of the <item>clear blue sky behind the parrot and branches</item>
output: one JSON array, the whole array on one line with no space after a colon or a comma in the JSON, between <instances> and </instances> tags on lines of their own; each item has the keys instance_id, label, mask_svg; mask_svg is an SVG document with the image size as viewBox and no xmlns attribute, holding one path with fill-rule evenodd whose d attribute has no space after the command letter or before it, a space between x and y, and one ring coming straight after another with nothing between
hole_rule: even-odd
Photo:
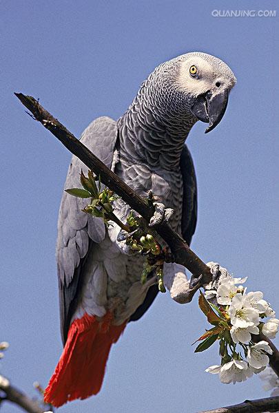
<instances>
[{"instance_id":1,"label":"clear blue sky behind the parrot and branches","mask_svg":"<svg viewBox=\"0 0 279 413\"><path fill-rule=\"evenodd\" d=\"M76 136L98 116L118 118L159 63L203 51L238 83L227 113L187 140L198 178L192 248L278 305L278 19L222 18L212 10L276 10L277 1L1 1L0 372L30 395L61 353L54 250L70 162L13 92L39 97ZM218 348L194 354L207 327L197 297L160 295L114 346L101 393L61 413L192 413L267 396L258 377L222 385L204 372ZM279 341L277 340L279 345ZM8 403L1 412L19 412Z\"/></svg>"}]
</instances>

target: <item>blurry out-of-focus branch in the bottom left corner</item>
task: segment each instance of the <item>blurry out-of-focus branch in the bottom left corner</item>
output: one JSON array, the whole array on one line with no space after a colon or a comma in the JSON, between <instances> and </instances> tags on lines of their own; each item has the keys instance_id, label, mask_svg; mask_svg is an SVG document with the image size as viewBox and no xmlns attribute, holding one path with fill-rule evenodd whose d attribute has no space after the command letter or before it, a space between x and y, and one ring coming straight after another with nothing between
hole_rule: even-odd
<instances>
[{"instance_id":1,"label":"blurry out-of-focus branch in the bottom left corner","mask_svg":"<svg viewBox=\"0 0 279 413\"><path fill-rule=\"evenodd\" d=\"M8 379L1 377L0 382L0 390L5 394L4 397L1 398L1 401L10 401L18 406L20 406L25 412L28 413L43 413L45 410L42 410L39 407L39 403L37 401L33 401L30 399L26 394L14 388L10 385Z\"/></svg>"}]
</instances>

